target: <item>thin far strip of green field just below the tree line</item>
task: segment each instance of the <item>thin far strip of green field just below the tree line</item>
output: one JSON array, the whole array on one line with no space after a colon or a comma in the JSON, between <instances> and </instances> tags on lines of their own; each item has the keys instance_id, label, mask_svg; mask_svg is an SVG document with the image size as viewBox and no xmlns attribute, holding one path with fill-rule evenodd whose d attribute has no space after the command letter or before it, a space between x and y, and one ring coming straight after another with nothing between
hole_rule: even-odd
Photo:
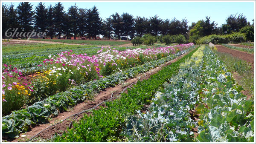
<instances>
[{"instance_id":1,"label":"thin far strip of green field just below the tree line","mask_svg":"<svg viewBox=\"0 0 256 144\"><path fill-rule=\"evenodd\" d=\"M59 39L29 39L36 41L50 41L50 42L60 42L60 43L75 43L75 44L86 44L86 45L98 45L98 46L116 46L122 44L131 43L131 41L121 41L121 40L59 40Z\"/></svg>"}]
</instances>

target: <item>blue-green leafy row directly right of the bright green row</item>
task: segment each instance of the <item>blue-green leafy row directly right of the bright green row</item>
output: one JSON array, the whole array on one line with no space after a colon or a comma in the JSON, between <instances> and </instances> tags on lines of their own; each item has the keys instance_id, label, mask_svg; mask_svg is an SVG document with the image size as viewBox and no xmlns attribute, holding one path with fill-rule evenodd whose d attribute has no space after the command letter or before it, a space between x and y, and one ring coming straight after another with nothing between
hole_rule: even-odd
<instances>
[{"instance_id":1,"label":"blue-green leafy row directly right of the bright green row","mask_svg":"<svg viewBox=\"0 0 256 144\"><path fill-rule=\"evenodd\" d=\"M137 110L128 118L122 131L128 141L192 141L192 127L197 122L190 118L189 110L195 107L198 87L204 81L203 49L201 46L190 60L180 64L177 75L154 95L149 112Z\"/></svg>"}]
</instances>

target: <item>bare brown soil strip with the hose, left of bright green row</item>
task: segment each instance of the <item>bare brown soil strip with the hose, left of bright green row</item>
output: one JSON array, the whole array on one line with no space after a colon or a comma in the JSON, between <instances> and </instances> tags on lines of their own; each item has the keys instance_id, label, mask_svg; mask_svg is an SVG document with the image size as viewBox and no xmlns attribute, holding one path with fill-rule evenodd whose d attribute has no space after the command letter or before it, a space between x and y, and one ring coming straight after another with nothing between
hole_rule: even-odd
<instances>
[{"instance_id":1,"label":"bare brown soil strip with the hose, left of bright green row","mask_svg":"<svg viewBox=\"0 0 256 144\"><path fill-rule=\"evenodd\" d=\"M187 52L186 54L188 54L188 53L189 52ZM26 141L26 140L32 138L32 136L38 134L38 132L41 132L42 130L46 129L47 127L49 127L51 125L54 125L58 122L63 121L65 118L69 117L70 115L74 115L78 112L82 112L85 109L90 109L90 108L96 106L97 104L101 103L102 101L108 100L111 97L119 96L120 93L124 89L126 89L128 86L136 84L137 81L143 81L145 79L150 78L151 75L154 75L155 73L160 71L163 67L168 66L171 63L174 63L175 61L182 58L186 54L183 54L180 57L175 58L174 60L171 60L171 61L169 61L165 64L162 64L162 65L158 66L157 68L151 69L148 72L140 74L136 78L128 79L123 84L120 84L120 85L115 86L115 87L110 87L110 88L107 88L107 89L99 92L98 94L95 95L94 100L82 102L80 104L77 104L75 107L71 108L67 112L59 113L59 115L57 117L52 118L52 120L49 121L49 123L47 123L47 124L34 124L34 125L32 125L29 128L28 132L20 133L20 135L26 135L25 138L19 137L19 138L15 138L15 139L9 139L8 141L13 141L13 142L15 142L15 141ZM127 92L127 89L124 92ZM102 104L101 106L106 107L105 104ZM145 109L143 109L143 112L147 111L147 107L148 106L145 106ZM96 109L99 109L99 107L97 107ZM85 114L90 115L91 113L86 112ZM76 118L76 120L79 120L82 117L83 117L83 114L80 114L78 116L78 118ZM39 137L44 138L44 139L49 139L49 138L52 138L53 135L55 135L55 132L57 132L59 134L63 133L64 131L67 130L67 127L69 127L70 121L72 119L73 119L73 117L70 117L66 121L63 121L59 124L56 124L56 125L48 128L47 130L44 130L42 133L37 135L37 137L39 136Z\"/></svg>"}]
</instances>

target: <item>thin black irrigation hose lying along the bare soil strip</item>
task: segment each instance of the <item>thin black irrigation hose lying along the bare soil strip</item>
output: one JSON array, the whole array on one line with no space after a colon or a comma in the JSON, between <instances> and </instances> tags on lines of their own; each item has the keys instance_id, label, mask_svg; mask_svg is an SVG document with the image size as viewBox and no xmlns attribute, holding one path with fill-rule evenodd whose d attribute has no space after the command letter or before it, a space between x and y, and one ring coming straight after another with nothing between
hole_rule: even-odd
<instances>
[{"instance_id":1,"label":"thin black irrigation hose lying along the bare soil strip","mask_svg":"<svg viewBox=\"0 0 256 144\"><path fill-rule=\"evenodd\" d=\"M140 78L139 78L139 80L140 80ZM138 81L139 81L139 80L138 80ZM68 116L67 118L70 118L71 116L74 116L74 115L75 115L75 117L72 119L72 121L71 121L70 124L69 124L69 128L71 127L71 125L72 125L72 123L73 123L73 120L74 120L78 115L80 115L80 114L82 114L82 113L84 113L84 112L87 112L87 111L89 111L89 110L95 109L96 107L99 107L101 104L105 103L106 101L109 101L109 100L114 99L114 98L119 98L119 96L120 96L126 89L128 89L131 85L133 85L133 84L135 84L135 83L137 83L137 81L134 82L134 83L132 83L132 84L130 84L130 85L127 86L125 89L123 89L122 92L120 92L120 94L119 94L118 96L116 96L116 97L112 97L112 95L113 95L113 94L112 94L112 95L111 95L111 98L109 98L109 99L107 99L107 100L105 100L105 101L102 101L101 103L97 104L96 106L94 106L94 107L92 107L92 108L90 108L90 109L86 109L86 110L84 110L84 111L82 111L82 112L78 112L78 113L75 113L75 114L73 114L73 115ZM67 120L67 118L65 118L63 121ZM61 122L63 122L63 121L61 121ZM60 124L61 122L58 122L57 124ZM49 129L50 127L53 127L53 126L55 126L55 125L57 125L57 124L54 124L54 125L52 125L52 126L49 126L49 127L45 128L44 130L47 130L47 129ZM40 133L42 133L44 130L41 130L41 131L38 132L36 135L32 136L32 137L29 139L29 141L31 141L31 140L32 140L33 138L35 138L37 135L39 135Z\"/></svg>"}]
</instances>

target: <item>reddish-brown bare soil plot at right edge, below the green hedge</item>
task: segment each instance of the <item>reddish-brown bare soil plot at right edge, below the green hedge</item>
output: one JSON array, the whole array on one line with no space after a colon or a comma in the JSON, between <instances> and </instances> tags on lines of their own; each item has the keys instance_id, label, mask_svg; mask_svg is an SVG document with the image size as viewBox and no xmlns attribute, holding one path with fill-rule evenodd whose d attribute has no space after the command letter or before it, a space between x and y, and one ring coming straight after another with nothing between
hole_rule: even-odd
<instances>
[{"instance_id":1,"label":"reddish-brown bare soil plot at right edge, below the green hedge","mask_svg":"<svg viewBox=\"0 0 256 144\"><path fill-rule=\"evenodd\" d=\"M251 66L252 69L254 69L254 56L253 54L248 54L246 52L241 52L233 49L226 48L221 45L215 45L216 48L218 49L218 52L225 52L225 53L230 53L233 55L233 57L240 58L242 60L246 60Z\"/></svg>"}]
</instances>

